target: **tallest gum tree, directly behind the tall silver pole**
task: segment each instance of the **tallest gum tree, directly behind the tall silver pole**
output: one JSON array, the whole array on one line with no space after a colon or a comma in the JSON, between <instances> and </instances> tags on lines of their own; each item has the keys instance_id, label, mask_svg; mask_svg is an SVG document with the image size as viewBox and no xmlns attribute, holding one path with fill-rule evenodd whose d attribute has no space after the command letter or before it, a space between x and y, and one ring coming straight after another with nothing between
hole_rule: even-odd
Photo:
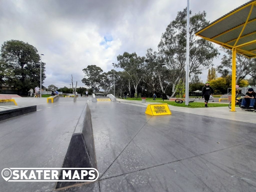
<instances>
[{"instance_id":1,"label":"tallest gum tree, directly behind the tall silver pole","mask_svg":"<svg viewBox=\"0 0 256 192\"><path fill-rule=\"evenodd\" d=\"M219 55L218 50L210 41L195 36L198 29L207 26L206 12L191 15L190 11L190 37L189 37L189 74L200 74L213 65L212 61ZM187 8L178 12L162 34L158 44L160 55L169 69L176 71L173 82L172 96L175 94L175 85L180 78L185 77L184 67L186 62L186 25Z\"/></svg>"}]
</instances>

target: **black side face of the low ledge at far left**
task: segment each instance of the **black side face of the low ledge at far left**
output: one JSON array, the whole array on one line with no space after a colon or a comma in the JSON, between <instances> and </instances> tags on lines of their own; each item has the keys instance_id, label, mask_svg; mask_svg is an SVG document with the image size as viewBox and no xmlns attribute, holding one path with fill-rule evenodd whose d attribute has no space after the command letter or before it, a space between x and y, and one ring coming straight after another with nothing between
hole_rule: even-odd
<instances>
[{"instance_id":1,"label":"black side face of the low ledge at far left","mask_svg":"<svg viewBox=\"0 0 256 192\"><path fill-rule=\"evenodd\" d=\"M36 111L36 105L0 111L0 121Z\"/></svg>"}]
</instances>

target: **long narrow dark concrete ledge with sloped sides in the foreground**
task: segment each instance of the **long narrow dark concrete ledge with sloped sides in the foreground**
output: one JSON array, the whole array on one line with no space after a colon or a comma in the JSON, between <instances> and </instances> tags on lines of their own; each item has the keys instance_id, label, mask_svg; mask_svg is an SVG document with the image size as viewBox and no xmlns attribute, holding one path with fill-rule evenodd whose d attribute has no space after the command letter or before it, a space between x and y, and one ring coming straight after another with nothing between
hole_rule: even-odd
<instances>
[{"instance_id":1,"label":"long narrow dark concrete ledge with sloped sides in the foreground","mask_svg":"<svg viewBox=\"0 0 256 192\"><path fill-rule=\"evenodd\" d=\"M62 168L64 167L97 169L91 111L88 103L85 104L72 134L62 165ZM74 171L74 169L72 171ZM62 175L60 175L59 178L62 178ZM55 188L67 187L76 183L78 182L57 182Z\"/></svg>"}]
</instances>

